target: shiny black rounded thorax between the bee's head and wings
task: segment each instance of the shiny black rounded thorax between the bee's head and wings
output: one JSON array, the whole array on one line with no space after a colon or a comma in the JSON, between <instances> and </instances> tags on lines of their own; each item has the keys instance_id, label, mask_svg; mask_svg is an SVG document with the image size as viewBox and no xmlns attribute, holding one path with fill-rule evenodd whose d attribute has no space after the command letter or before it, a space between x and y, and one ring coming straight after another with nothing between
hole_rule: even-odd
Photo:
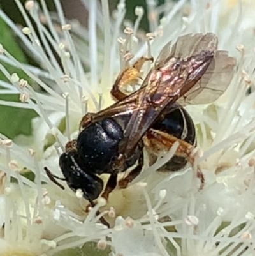
<instances>
[{"instance_id":1,"label":"shiny black rounded thorax between the bee's head and wings","mask_svg":"<svg viewBox=\"0 0 255 256\"><path fill-rule=\"evenodd\" d=\"M129 117L126 117L127 121ZM77 139L79 162L95 174L124 172L138 160L139 146L131 156L126 156L120 167L114 162L119 158L119 144L123 139L123 118L105 118L84 128Z\"/></svg>"}]
</instances>

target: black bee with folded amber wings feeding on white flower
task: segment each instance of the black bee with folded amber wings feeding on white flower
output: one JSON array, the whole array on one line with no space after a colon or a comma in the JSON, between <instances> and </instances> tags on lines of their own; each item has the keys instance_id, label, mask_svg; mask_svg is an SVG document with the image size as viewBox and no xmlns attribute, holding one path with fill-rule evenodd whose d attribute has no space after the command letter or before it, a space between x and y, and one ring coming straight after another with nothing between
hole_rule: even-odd
<instances>
[{"instance_id":1,"label":"black bee with folded amber wings feeding on white flower","mask_svg":"<svg viewBox=\"0 0 255 256\"><path fill-rule=\"evenodd\" d=\"M147 61L153 59L141 57L119 73L111 91L116 103L82 117L77 140L68 142L59 158L64 178L45 168L55 183L62 179L72 190L82 190L91 206L99 195L108 199L120 172L131 169L119 180L120 188L140 174L144 148L152 164L178 141L175 156L161 170L182 169L196 145L194 123L184 106L214 102L235 70L235 59L217 50L215 34L187 34L167 43L140 89L126 93L125 86L137 84ZM106 186L100 174L110 174Z\"/></svg>"}]
</instances>

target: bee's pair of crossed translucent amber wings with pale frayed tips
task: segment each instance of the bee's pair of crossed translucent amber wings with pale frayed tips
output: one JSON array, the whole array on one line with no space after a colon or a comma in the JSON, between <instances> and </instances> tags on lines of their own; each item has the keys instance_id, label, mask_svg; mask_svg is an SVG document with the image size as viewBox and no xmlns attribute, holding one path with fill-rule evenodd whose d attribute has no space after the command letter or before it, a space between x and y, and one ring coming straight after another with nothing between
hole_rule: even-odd
<instances>
[{"instance_id":1,"label":"bee's pair of crossed translucent amber wings with pale frayed tips","mask_svg":"<svg viewBox=\"0 0 255 256\"><path fill-rule=\"evenodd\" d=\"M187 34L173 47L170 45L163 48L138 91L96 114L96 120L116 116L118 120L128 119L122 123L124 139L119 144L119 152L126 156L133 153L164 109L170 111L176 101L212 102L228 87L233 76L235 61L227 52L216 52L215 34ZM182 65L173 68L177 62L186 69L183 71ZM201 91L206 92L205 96L200 95Z\"/></svg>"}]
</instances>

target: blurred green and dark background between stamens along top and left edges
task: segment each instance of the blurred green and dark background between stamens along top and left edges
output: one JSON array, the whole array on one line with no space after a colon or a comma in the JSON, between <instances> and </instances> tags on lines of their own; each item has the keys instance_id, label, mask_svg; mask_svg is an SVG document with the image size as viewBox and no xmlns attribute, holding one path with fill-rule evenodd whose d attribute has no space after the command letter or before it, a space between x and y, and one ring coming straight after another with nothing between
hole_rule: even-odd
<instances>
[{"instance_id":1,"label":"blurred green and dark background between stamens along top and left edges","mask_svg":"<svg viewBox=\"0 0 255 256\"><path fill-rule=\"evenodd\" d=\"M22 3L25 3L25 0L21 1ZM46 1L48 4L48 8L51 11L54 11L54 3L52 0ZM66 16L69 19L76 18L78 16L78 13L80 11L80 2L79 0L61 0L61 3L64 6L64 12ZM71 3L71 8L70 8ZM109 0L110 3L110 10L114 10L117 6L117 3L119 3L119 0ZM135 20L135 7L136 6L144 6L145 7L146 0L126 0L126 19L129 19L131 21ZM163 4L164 0L159 0L157 2L158 5ZM3 11L10 17L13 22L16 24L22 24L25 25L24 19L20 15L20 12L18 11L17 5L15 4L14 0L0 0L0 6L3 9ZM84 15L84 13L83 13ZM84 16L82 17L84 18ZM78 18L79 19L79 18ZM80 19L80 22L84 20ZM82 22L84 23L84 22ZM145 15L143 17L143 20L141 22L141 27L144 30L147 30L148 23L146 19L146 8L145 8ZM34 63L34 60L29 58L25 54L24 49L20 49L20 46L18 44L18 41L16 40L15 36L13 35L11 29L4 24L3 20L0 20L0 34L1 34L1 40L0 43L4 46L5 49L7 49L13 56L15 56L18 61L23 63L29 63L36 66L36 63ZM18 73L18 75L22 78L26 78L25 74L23 72L20 72L17 68L13 68L12 66L9 66L7 64L4 64L5 68L8 69L10 73ZM29 80L29 78L27 77ZM0 80L7 81L4 77L3 73L0 72ZM11 94L11 95L3 95L0 94L0 100L11 100L19 102L19 95ZM16 135L22 133L24 135L30 135L32 132L31 127L31 119L36 116L36 113L33 110L27 110L27 109L18 109L13 107L5 107L3 105L0 105L0 133L3 133L10 139L13 139Z\"/></svg>"}]
</instances>

